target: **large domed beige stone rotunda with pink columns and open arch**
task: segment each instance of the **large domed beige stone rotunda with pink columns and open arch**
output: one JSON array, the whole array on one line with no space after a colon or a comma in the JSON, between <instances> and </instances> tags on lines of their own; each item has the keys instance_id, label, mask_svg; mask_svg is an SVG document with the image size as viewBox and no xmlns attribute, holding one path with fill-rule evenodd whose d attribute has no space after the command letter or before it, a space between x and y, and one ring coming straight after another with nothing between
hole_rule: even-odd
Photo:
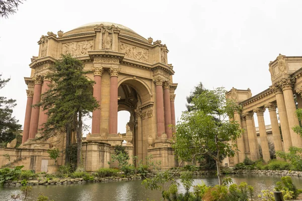
<instances>
[{"instance_id":1,"label":"large domed beige stone rotunda with pink columns and open arch","mask_svg":"<svg viewBox=\"0 0 302 201\"><path fill-rule=\"evenodd\" d=\"M165 44L106 22L87 24L65 33L59 31L57 35L48 32L38 44L39 55L31 59L31 75L25 77L28 99L21 152L41 145L44 150L52 146L65 148L64 139L57 144L35 141L37 135L43 135L39 129L47 121L47 115L31 105L40 101L51 82L44 79L49 67L61 54L71 54L85 64L87 79L96 82L93 94L100 104L100 110L93 111L91 134L83 143L86 170L109 167L110 153L122 142L117 134L117 113L122 110L131 114L129 153L139 159L152 154L154 160L162 161L162 168L175 166L169 125L175 125L177 83L173 83L174 70L168 64ZM64 138L64 134L61 136ZM74 136L72 142L75 143Z\"/></svg>"}]
</instances>

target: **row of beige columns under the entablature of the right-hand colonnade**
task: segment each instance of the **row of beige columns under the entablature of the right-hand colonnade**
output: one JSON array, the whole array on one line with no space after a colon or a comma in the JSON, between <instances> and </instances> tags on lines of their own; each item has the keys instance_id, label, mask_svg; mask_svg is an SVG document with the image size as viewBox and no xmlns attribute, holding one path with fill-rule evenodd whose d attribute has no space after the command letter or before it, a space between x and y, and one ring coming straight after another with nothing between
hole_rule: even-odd
<instances>
[{"instance_id":1,"label":"row of beige columns under the entablature of the right-hand colonnade","mask_svg":"<svg viewBox=\"0 0 302 201\"><path fill-rule=\"evenodd\" d=\"M270 86L270 92L275 94L275 100L268 103L262 101L265 104L262 106L261 104L258 104L257 108L250 111L248 111L244 106L243 113L234 114L235 121L240 123L241 128L244 129L241 138L237 139L239 152L238 157L234 158L234 164L243 162L244 158L249 154L251 160L257 160L260 157L255 122L253 118L254 113L257 114L258 119L263 159L265 162L270 160L269 145L264 122L264 112L266 109L269 111L275 151L283 150L288 152L288 148L290 146L302 147L302 138L292 130L294 126L299 125L298 118L295 114L296 107L293 96L293 84L293 78L282 78L280 81ZM302 90L296 90L296 92L297 99L301 99ZM301 103L302 102L299 104L300 108L302 108ZM283 143L276 114L277 108Z\"/></svg>"}]
</instances>

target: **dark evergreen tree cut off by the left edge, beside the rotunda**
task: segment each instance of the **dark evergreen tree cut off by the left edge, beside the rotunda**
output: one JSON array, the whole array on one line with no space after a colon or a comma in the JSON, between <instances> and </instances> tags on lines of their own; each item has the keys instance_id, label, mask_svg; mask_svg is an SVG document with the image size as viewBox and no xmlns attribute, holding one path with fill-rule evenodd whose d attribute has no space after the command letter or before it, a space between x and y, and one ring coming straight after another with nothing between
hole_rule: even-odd
<instances>
[{"instance_id":1,"label":"dark evergreen tree cut off by the left edge, beside the rotunda","mask_svg":"<svg viewBox=\"0 0 302 201\"><path fill-rule=\"evenodd\" d=\"M2 79L0 74L0 89L10 81L9 79ZM16 106L16 100L7 99L0 96L0 143L8 143L15 139L16 134L20 133L21 125L18 120L12 116L13 108Z\"/></svg>"}]
</instances>

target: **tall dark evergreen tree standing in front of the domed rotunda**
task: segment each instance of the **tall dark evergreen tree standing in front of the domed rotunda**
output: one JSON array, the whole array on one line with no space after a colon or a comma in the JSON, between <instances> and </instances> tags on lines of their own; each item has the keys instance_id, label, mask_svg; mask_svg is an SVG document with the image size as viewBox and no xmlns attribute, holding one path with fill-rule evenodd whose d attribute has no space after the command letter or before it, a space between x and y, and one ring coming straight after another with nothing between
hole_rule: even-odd
<instances>
[{"instance_id":1,"label":"tall dark evergreen tree standing in front of the domed rotunda","mask_svg":"<svg viewBox=\"0 0 302 201\"><path fill-rule=\"evenodd\" d=\"M47 111L49 117L43 125L43 138L65 131L66 139L70 139L74 130L77 134L77 171L84 171L83 118L99 108L92 91L95 82L85 77L83 63L71 55L62 55L62 59L56 61L50 69L52 73L46 75L46 78L51 78L54 83L42 94L41 103L37 105ZM69 142L66 140L66 147Z\"/></svg>"}]
</instances>

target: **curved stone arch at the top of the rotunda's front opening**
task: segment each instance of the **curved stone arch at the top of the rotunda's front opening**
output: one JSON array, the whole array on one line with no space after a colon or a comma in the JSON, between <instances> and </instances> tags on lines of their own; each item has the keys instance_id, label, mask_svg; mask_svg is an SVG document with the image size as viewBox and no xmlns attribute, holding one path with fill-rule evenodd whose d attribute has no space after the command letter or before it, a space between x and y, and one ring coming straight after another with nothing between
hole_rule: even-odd
<instances>
[{"instance_id":1,"label":"curved stone arch at the top of the rotunda's front opening","mask_svg":"<svg viewBox=\"0 0 302 201\"><path fill-rule=\"evenodd\" d=\"M127 84L134 88L141 99L141 104L147 103L152 97L152 91L150 87L140 78L133 78L132 76L124 77L119 80L118 87L121 84Z\"/></svg>"}]
</instances>

